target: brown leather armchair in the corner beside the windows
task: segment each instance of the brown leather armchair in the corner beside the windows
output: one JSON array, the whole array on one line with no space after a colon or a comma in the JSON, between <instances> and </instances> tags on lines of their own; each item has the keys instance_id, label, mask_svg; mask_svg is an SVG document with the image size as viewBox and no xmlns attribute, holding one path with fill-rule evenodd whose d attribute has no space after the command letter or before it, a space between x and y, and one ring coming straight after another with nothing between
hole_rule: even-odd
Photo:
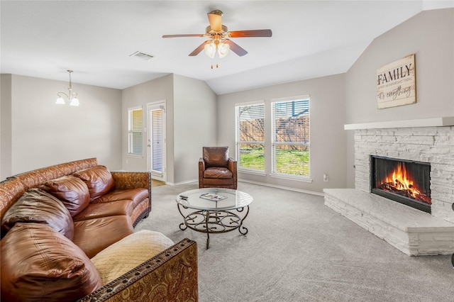
<instances>
[{"instance_id":1,"label":"brown leather armchair in the corner beside the windows","mask_svg":"<svg viewBox=\"0 0 454 302\"><path fill-rule=\"evenodd\" d=\"M199 188L236 189L237 162L228 157L228 147L203 147L199 160Z\"/></svg>"}]
</instances>

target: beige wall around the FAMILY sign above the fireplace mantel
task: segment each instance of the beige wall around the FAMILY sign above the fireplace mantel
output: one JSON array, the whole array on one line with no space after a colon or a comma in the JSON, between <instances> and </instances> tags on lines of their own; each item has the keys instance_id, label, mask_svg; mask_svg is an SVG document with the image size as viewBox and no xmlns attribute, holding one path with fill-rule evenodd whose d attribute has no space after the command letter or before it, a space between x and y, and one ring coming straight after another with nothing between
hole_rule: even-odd
<instances>
[{"instance_id":1,"label":"beige wall around the FAMILY sign above the fireplace mantel","mask_svg":"<svg viewBox=\"0 0 454 302\"><path fill-rule=\"evenodd\" d=\"M377 109L378 68L415 54L416 104ZM454 116L454 9L423 11L376 38L346 74L346 123ZM353 131L348 187L354 187Z\"/></svg>"}]
</instances>

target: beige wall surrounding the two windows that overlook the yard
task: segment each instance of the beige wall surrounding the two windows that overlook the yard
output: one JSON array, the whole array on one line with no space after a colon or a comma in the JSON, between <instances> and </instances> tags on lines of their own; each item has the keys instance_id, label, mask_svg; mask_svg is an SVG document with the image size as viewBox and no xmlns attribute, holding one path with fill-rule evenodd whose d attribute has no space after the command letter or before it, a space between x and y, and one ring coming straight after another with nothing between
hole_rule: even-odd
<instances>
[{"instance_id":1,"label":"beige wall surrounding the two windows that overlook the yard","mask_svg":"<svg viewBox=\"0 0 454 302\"><path fill-rule=\"evenodd\" d=\"M311 183L271 177L270 135L265 138L266 175L238 174L239 179L319 192L323 188L345 187L345 77L343 74L299 82L268 86L218 96L218 145L227 145L235 154L235 106L251 101L265 101L265 122L270 121L272 99L309 94L311 97ZM269 129L271 125L265 124ZM323 181L328 174L329 181Z\"/></svg>"}]
</instances>

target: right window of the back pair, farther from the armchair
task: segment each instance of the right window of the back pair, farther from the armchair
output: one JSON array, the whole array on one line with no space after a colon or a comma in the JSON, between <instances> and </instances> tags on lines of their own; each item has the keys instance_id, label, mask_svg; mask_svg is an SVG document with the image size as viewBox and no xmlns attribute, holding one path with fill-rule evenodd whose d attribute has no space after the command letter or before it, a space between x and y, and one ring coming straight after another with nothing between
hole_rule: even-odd
<instances>
[{"instance_id":1,"label":"right window of the back pair, farther from the armchair","mask_svg":"<svg viewBox=\"0 0 454 302\"><path fill-rule=\"evenodd\" d=\"M272 108L272 173L309 177L309 96Z\"/></svg>"}]
</instances>

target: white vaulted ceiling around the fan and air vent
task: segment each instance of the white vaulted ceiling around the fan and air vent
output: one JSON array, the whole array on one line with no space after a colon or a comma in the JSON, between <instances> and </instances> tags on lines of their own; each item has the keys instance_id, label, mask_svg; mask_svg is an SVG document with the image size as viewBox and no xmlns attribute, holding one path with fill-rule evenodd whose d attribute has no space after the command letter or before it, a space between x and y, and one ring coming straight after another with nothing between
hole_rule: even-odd
<instances>
[{"instance_id":1,"label":"white vaulted ceiling around the fan and air vent","mask_svg":"<svg viewBox=\"0 0 454 302\"><path fill-rule=\"evenodd\" d=\"M347 72L374 38L425 9L454 1L1 1L1 73L124 89L175 73L216 94ZM271 38L233 38L248 50L212 60L206 13L228 30L270 28ZM153 55L144 61L136 51ZM211 69L211 64L219 65Z\"/></svg>"}]
</instances>

